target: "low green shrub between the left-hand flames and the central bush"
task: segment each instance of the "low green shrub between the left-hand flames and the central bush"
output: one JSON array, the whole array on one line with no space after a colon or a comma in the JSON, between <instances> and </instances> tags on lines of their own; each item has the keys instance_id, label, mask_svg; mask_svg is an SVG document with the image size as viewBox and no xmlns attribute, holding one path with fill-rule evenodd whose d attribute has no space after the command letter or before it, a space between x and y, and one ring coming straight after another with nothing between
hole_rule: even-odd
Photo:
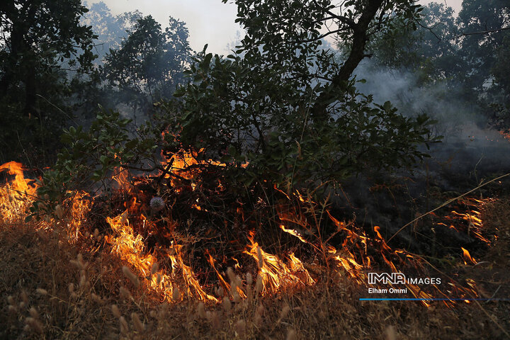
<instances>
[{"instance_id":1,"label":"low green shrub between the left-hand flames and the central bush","mask_svg":"<svg viewBox=\"0 0 510 340\"><path fill-rule=\"evenodd\" d=\"M57 204L79 191L108 191L113 175L154 159L157 140L143 130L143 135L130 137L129 123L118 112L102 108L88 131L81 126L64 130L66 147L55 165L45 171L38 188L40 199L30 208L30 216L53 214Z\"/></svg>"}]
</instances>

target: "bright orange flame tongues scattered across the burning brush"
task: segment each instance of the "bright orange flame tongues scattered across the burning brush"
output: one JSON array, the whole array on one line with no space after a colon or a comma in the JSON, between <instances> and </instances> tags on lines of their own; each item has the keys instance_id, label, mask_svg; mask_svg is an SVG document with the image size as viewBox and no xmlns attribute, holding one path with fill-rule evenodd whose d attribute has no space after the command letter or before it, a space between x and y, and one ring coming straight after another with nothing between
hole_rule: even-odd
<instances>
[{"instance_id":1,"label":"bright orange flame tongues scattered across the burning brush","mask_svg":"<svg viewBox=\"0 0 510 340\"><path fill-rule=\"evenodd\" d=\"M178 154L174 154L168 162L164 162L163 166L166 170L159 174L159 176L161 176L160 178L169 179L177 193L181 190L185 190L185 186L187 186L186 190L195 191L197 190L197 186L198 188L200 186L200 182L198 181L200 178L200 176L198 176L200 174L200 166L225 166L225 164L221 164L220 162L198 161L196 159L197 155L197 152L179 152ZM21 210L14 211L11 209L12 211L9 212L8 207L11 206L8 205L11 204L9 202L12 201L13 198L18 198L20 202L23 201L23 204L26 204L26 202L30 200L27 195L35 195L36 187L30 183L29 179L25 179L23 176L23 166L19 163L10 162L4 164L0 166L0 171L8 171L8 174L15 175L11 183L0 188L3 189L0 190L0 210L4 216L2 218L5 218L9 213L12 216L16 216L16 214L20 216L22 215ZM147 201L145 193L143 193L143 191L135 193L135 186L130 183L131 176L128 174L128 171L123 171L123 169L117 169L117 171L118 174L115 174L112 179L118 183L118 191L123 194L129 193L130 195L124 201L125 211L123 213L116 217L106 217L106 221L113 230L113 234L106 235L105 237L111 252L122 261L127 262L131 268L135 269L138 275L147 278L147 280L142 280L143 288L161 294L165 300L176 301L189 297L203 301L220 302L217 297L207 293L208 288L206 286L200 285L200 275L197 276L197 273L193 271L191 263L186 264L188 261L186 245L181 244L183 243L183 239L180 239L174 231L176 226L179 225L179 222L173 221L171 217L167 216L162 217L156 222L145 217L144 212L147 211L145 210L147 206L143 203ZM222 184L220 182L218 183L218 188L222 189ZM9 188L12 189L11 192L8 192L7 189ZM369 245L377 249L378 254L380 254L382 260L392 272L399 272L399 268L408 265L409 261L413 263L415 266L414 268L422 268L419 256L414 256L414 254L410 254L402 249L392 249L388 246L385 239L382 237L380 227L374 227L375 237L368 237L365 232L363 232L363 229L356 227L353 222L341 222L333 217L329 210L323 210L323 215L329 217L328 223L332 223L336 227L334 233L341 234L343 240L338 248L331 246L329 244L331 237L324 240L320 234L321 228L319 228L319 225L321 225L322 222L314 220L315 215L309 213L310 210L303 208L304 205L313 206L317 205L317 203L312 202L310 197L303 197L297 191L285 193L276 187L275 190L283 193L283 195L293 203L289 205L282 204L276 207L280 219L278 227L280 227L283 232L297 237L300 242L312 246L319 254L324 255L324 261L328 268L332 267L334 271L338 273L347 273L348 277L354 282L360 285L367 284L366 272L371 265L371 258L367 254ZM125 197L125 195L123 195L123 197ZM202 201L200 200L200 202ZM470 199L467 200L466 204L475 207L483 203L485 203L485 200ZM73 198L67 201L67 206L71 207L69 208L69 222L66 221L66 225L69 226L67 227L67 232L71 235L71 242L77 242L77 240L80 239L81 231L84 229L83 222L86 219L86 213L90 211L92 204L92 201L86 198L86 193L84 192L75 193ZM240 204L242 205L242 203ZM200 214L209 213L205 207L207 207L207 205L199 203L198 200L196 200L196 203L193 202L189 208L193 208L195 211L200 210ZM237 207L236 211L239 218L244 221L243 208ZM469 223L469 227L467 227L468 233L472 233L478 239L488 242L482 236L482 217L478 210L470 209L470 211L465 214L453 211L452 215ZM130 223L130 219L134 222L135 229L133 229L134 225ZM144 236L142 236L143 232L140 232L140 230L156 229L157 224L159 225L162 221L167 223L166 227L168 232L166 236L169 237L169 239L173 239L171 246L166 248L155 247L154 251L149 251L145 245ZM143 228L139 228L138 223L143 225ZM47 225L51 224L47 223ZM53 225L56 226L57 222ZM312 225L314 225L314 229ZM305 264L302 263L293 252L289 251L283 259L280 259L278 256L263 251L259 243L254 241L254 238L255 233L253 231L249 232L249 244L246 245L243 253L247 254L258 263L258 276L259 280L262 282L262 290L260 293L262 295L278 293L282 290L304 288L305 286L314 285L314 283L316 283L317 280L310 275ZM313 242L310 242L308 239L312 239ZM466 264L477 263L472 259L466 249L462 250ZM236 293L239 297L246 298L247 293L245 293L239 285L235 285L237 292L235 290L232 291L232 286L227 283L227 280L222 276L220 270L217 269L215 259L208 252L206 254L211 268L216 273L218 283L222 285L225 292L229 292L232 298L234 298ZM236 259L232 260L237 262ZM167 263L167 266L171 268L165 268L163 266L157 273L152 273L151 268L154 263ZM235 268L240 268L239 263L237 263ZM223 275L225 275L225 273ZM229 274L229 276L230 275L231 274ZM240 279L237 277L236 280ZM450 285L455 288L455 285ZM470 287L473 287L472 285L474 285L474 283L471 283ZM415 297L431 297L429 293L424 292L418 285L408 283L406 287L409 288L409 292ZM433 286L433 288L443 294L438 287ZM462 288L458 289L459 291L465 291L462 290ZM247 291L248 290L246 290L246 292ZM179 292L179 295L174 294L176 292ZM176 298L176 296L178 296L178 298Z\"/></svg>"}]
</instances>

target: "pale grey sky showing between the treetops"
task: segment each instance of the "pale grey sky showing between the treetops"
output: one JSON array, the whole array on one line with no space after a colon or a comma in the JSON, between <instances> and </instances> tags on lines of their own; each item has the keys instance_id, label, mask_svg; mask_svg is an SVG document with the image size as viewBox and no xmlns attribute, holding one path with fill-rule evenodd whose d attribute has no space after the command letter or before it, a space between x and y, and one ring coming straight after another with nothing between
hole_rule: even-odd
<instances>
[{"instance_id":1,"label":"pale grey sky showing between the treetops","mask_svg":"<svg viewBox=\"0 0 510 340\"><path fill-rule=\"evenodd\" d=\"M0 0L1 1L1 0ZM90 1L90 0L89 0ZM99 0L91 0L91 3ZM123 12L140 10L145 15L152 15L156 21L166 26L168 17L186 22L190 33L190 45L193 50L203 49L209 44L208 51L220 54L229 52L227 45L234 42L241 28L234 23L237 6L229 0L222 4L221 0L103 0L113 15ZM427 4L430 0L420 0ZM460 10L462 0L436 0Z\"/></svg>"}]
</instances>

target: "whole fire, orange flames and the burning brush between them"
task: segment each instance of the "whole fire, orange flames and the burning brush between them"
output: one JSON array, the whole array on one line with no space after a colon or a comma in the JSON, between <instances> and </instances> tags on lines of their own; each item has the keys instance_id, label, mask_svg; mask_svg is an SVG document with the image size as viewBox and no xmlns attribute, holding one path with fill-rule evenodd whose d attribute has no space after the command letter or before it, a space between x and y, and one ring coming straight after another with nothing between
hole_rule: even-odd
<instances>
[{"instance_id":1,"label":"whole fire, orange flames and the burning brush between them","mask_svg":"<svg viewBox=\"0 0 510 340\"><path fill-rule=\"evenodd\" d=\"M213 292L212 288L218 285L222 288L222 292L227 294L227 298L237 301L253 296L250 293L253 292L250 285L255 285L254 281L261 285L261 289L257 288L257 293L271 295L314 285L319 280L320 273L326 270L344 275L361 286L367 285L368 272L380 269L374 268L374 263L388 268L392 273L399 273L404 269L417 273L424 272L425 262L419 256L402 249L392 249L382 236L380 227L375 226L372 233L356 225L354 221L341 221L324 208L325 205L320 208L310 196L304 196L298 191L290 191L290 188L288 192L284 192L276 186L274 193L281 199L274 206L274 217L268 220L274 223L273 227L278 232L284 232L285 235L290 235L290 239L295 238L299 242L296 242L295 249L278 251L278 255L271 254L270 251L273 252L273 250L268 249L273 248L261 246L255 241L256 237L260 237L256 234L256 230L259 230L261 226L256 225L257 220L249 220L253 214L246 210L245 207L248 205L246 202L236 200L232 203L232 207L227 207L230 208L229 211L234 217L217 218L219 214L214 210L214 205L208 205L211 198L202 192L204 184L201 171L210 169L210 166L222 167L225 164L211 160L198 160L200 152L181 150L166 157L158 167L159 174L152 177L150 175L134 177L125 169L113 171L111 177L115 183L113 197L115 202L118 201L116 208L119 209L122 205L123 208L117 210L115 214L110 212L109 216L105 216L110 229L103 231L105 233L104 249L134 269L136 275L142 278L141 289L157 293L163 300L169 302L196 299L217 303L224 298L222 293L217 293L218 290ZM0 171L14 175L14 179L0 190L0 205L4 216L2 218L6 216L19 218L24 210L21 208L13 210L9 207L19 202L23 203L20 207L26 208L26 204L36 198L37 187L32 180L25 179L23 166L19 163L4 164L0 166ZM148 185L153 183L151 181L159 183L162 180L166 183L166 186L163 186L164 189ZM138 186L140 183L143 186ZM211 195L220 195L227 190L219 179L217 183L207 188ZM154 193L151 190L154 190ZM174 204L181 197L191 197L186 201L188 215L184 217L181 217L179 209L174 209ZM151 209L149 200L154 198L157 198L162 209ZM257 198L256 201L263 202L263 198ZM461 231L488 243L483 236L480 210L476 208L485 202L486 200L465 198L462 203L470 207L468 211L454 210L448 218L452 226L458 225L454 223L455 221L462 220L467 227ZM46 228L62 227L68 234L69 242L72 244L80 242L87 229L91 228L87 216L96 204L95 199L85 192L77 192L61 204L64 208L59 205L59 209L64 210L65 213L59 212L57 215L65 215L64 218L55 217L55 220L50 219L41 223ZM320 213L317 213L319 210ZM119 211L122 213L119 214ZM235 242L221 244L225 247L232 244L232 250L225 251L225 254L232 256L230 259L226 259L227 256L215 259L212 254L216 254L217 251L206 247L203 247L203 256L194 256L196 253L193 253L193 249L197 249L197 242L205 239L210 243L209 240L213 239L207 230L205 234L193 234L196 229L193 229L193 232L188 231L193 225L193 218L197 216L206 216L212 221L220 221L217 223L221 228L227 229L233 225L232 228L237 228L239 235L245 235L237 237ZM213 220L212 217L216 219ZM329 227L329 234L324 234L326 226ZM147 239L152 235L157 235L154 238L157 241L149 244ZM336 243L333 245L331 240L334 237ZM247 239L247 244L244 244L243 239ZM212 252L209 249L212 249ZM462 250L466 264L476 263L466 249ZM248 259L247 263L243 263L242 257L238 254L244 254L243 258ZM296 254L299 254L299 258ZM375 261L376 257L377 261ZM203 261L200 262L196 258ZM310 264L310 261L313 264ZM234 266L230 264L231 268L227 270L229 282L225 279L223 271L228 266L225 263L235 263ZM222 267L223 265L225 267ZM154 272L152 268L157 268L157 271ZM244 271L242 274L246 277L246 285L238 275L240 271ZM252 274L256 274L256 280L252 280ZM474 291L457 285L452 287L448 293L456 293L461 297L466 296L467 291L470 293ZM436 285L427 291L409 283L406 288L414 297L430 298L433 292L446 296L446 293Z\"/></svg>"}]
</instances>

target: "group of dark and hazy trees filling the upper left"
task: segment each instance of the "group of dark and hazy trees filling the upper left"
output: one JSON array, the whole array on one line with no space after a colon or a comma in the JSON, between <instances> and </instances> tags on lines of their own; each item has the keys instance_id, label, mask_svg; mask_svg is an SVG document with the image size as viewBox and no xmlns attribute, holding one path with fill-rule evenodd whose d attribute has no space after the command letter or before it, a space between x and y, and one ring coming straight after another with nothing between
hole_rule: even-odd
<instances>
[{"instance_id":1,"label":"group of dark and hazy trees filling the upper left","mask_svg":"<svg viewBox=\"0 0 510 340\"><path fill-rule=\"evenodd\" d=\"M147 115L171 98L190 62L186 24L168 27L102 2L0 4L1 162L51 164L62 128L89 125L98 104Z\"/></svg>"}]
</instances>

